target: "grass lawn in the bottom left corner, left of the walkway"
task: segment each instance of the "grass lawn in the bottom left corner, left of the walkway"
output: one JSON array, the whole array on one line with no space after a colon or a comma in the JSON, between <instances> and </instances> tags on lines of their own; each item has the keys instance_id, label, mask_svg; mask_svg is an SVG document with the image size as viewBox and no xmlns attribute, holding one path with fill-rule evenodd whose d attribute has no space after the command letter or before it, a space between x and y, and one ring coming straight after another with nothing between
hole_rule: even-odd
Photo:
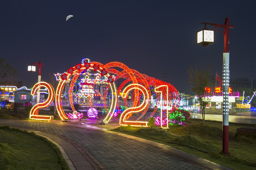
<instances>
[{"instance_id":1,"label":"grass lawn in the bottom left corner, left of the walkway","mask_svg":"<svg viewBox=\"0 0 256 170\"><path fill-rule=\"evenodd\" d=\"M58 147L42 136L0 126L0 170L70 170Z\"/></svg>"}]
</instances>

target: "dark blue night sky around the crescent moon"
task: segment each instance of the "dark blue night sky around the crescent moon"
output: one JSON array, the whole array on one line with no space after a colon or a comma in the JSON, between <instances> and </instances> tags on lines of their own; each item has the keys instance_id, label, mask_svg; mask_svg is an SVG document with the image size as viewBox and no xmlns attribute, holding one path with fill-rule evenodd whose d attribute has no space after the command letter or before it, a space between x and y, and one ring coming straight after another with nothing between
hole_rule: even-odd
<instances>
[{"instance_id":1,"label":"dark blue night sky around the crescent moon","mask_svg":"<svg viewBox=\"0 0 256 170\"><path fill-rule=\"evenodd\" d=\"M5 0L0 4L0 58L28 88L38 80L38 68L27 71L30 62L41 60L42 81L48 81L48 74L63 73L89 58L102 64L119 61L161 80L167 70L168 83L191 93L191 64L210 64L214 75L222 75L224 36L215 31L215 43L198 45L201 22L230 19L236 26L229 32L230 79L251 77L255 7L253 0ZM68 15L74 17L66 21Z\"/></svg>"}]
</instances>

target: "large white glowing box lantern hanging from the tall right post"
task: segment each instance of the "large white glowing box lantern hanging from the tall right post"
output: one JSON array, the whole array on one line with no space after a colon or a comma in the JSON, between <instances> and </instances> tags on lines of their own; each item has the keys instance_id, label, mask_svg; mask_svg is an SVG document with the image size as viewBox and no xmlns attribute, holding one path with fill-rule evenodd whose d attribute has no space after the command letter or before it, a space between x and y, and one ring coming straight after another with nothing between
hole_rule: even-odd
<instances>
[{"instance_id":1,"label":"large white glowing box lantern hanging from the tall right post","mask_svg":"<svg viewBox=\"0 0 256 170\"><path fill-rule=\"evenodd\" d=\"M208 46L214 42L214 30L209 30L208 28L203 28L197 32L197 44L203 46Z\"/></svg>"}]
</instances>

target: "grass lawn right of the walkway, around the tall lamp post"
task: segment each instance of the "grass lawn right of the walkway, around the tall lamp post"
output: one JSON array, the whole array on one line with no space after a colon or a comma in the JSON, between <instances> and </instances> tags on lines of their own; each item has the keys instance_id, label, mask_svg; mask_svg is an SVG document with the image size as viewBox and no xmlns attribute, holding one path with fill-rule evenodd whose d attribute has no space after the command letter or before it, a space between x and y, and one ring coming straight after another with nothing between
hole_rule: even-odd
<instances>
[{"instance_id":1,"label":"grass lawn right of the walkway, around the tall lamp post","mask_svg":"<svg viewBox=\"0 0 256 170\"><path fill-rule=\"evenodd\" d=\"M170 126L169 132L152 127L118 127L112 131L166 144L233 170L256 170L256 136L236 136L238 127L256 125L229 123L229 157L222 154L222 122L191 119L187 126ZM174 135L173 135L174 134ZM177 136L178 135L178 136Z\"/></svg>"}]
</instances>

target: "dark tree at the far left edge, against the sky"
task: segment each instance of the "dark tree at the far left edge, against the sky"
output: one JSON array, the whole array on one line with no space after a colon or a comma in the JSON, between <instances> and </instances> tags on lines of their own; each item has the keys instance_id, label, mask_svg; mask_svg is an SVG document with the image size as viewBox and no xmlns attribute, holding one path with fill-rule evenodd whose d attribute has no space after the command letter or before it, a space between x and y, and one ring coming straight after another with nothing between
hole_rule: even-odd
<instances>
[{"instance_id":1,"label":"dark tree at the far left edge, against the sky","mask_svg":"<svg viewBox=\"0 0 256 170\"><path fill-rule=\"evenodd\" d=\"M6 59L0 58L0 85L11 85L12 78L17 71L10 66Z\"/></svg>"}]
</instances>

